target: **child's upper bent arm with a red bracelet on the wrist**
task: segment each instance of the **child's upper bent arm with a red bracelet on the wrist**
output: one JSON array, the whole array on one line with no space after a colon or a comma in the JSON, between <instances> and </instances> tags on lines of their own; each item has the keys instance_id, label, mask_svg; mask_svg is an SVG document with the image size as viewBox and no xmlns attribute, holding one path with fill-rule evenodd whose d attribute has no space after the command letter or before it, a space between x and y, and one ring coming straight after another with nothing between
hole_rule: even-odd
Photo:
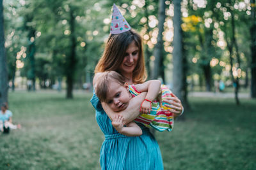
<instances>
[{"instance_id":1,"label":"child's upper bent arm with a red bracelet on the wrist","mask_svg":"<svg viewBox=\"0 0 256 170\"><path fill-rule=\"evenodd\" d=\"M149 80L145 83L134 86L139 92L148 92L147 96L145 97L145 101L143 101L143 103L141 104L140 112L150 113L152 101L154 101L159 93L161 93L161 81Z\"/></svg>"}]
</instances>

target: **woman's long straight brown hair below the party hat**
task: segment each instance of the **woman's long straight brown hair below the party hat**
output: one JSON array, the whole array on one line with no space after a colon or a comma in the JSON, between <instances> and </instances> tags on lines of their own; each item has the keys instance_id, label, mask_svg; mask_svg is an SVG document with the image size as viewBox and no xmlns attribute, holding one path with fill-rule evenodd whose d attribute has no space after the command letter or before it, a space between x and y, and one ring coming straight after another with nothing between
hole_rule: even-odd
<instances>
[{"instance_id":1,"label":"woman's long straight brown hair below the party hat","mask_svg":"<svg viewBox=\"0 0 256 170\"><path fill-rule=\"evenodd\" d=\"M118 69L124 60L125 51L132 41L134 41L139 48L138 62L132 73L132 81L134 83L143 83L147 79L147 72L145 70L141 36L132 29L130 31L123 32L122 34L109 35L104 53L95 67L94 72L118 72Z\"/></svg>"}]
</instances>

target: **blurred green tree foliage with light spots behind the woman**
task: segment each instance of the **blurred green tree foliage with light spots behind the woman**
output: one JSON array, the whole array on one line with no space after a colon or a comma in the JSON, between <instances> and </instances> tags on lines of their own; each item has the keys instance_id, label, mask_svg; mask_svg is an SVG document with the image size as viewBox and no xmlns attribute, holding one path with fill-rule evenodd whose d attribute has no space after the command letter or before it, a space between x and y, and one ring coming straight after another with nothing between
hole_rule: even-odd
<instances>
[{"instance_id":1,"label":"blurred green tree foliage with light spots behind the woman","mask_svg":"<svg viewBox=\"0 0 256 170\"><path fill-rule=\"evenodd\" d=\"M45 81L46 78L54 84L57 78L65 77L70 69L68 65L72 45L70 38L74 36L76 62L72 75L76 87L81 87L84 82L90 81L95 64L104 50L104 42L108 38L113 3L116 3L131 27L140 32L144 38L146 66L150 72L150 64L154 64L152 51L158 32L158 1L104 0L99 3L95 0L10 0L4 1L4 26L10 80L15 76L15 71L18 71L21 76L29 75L31 70L28 57L29 43L35 43L37 80ZM172 68L173 3L172 1L165 1L165 3L163 67L165 71L169 71ZM228 72L232 68L228 68L230 61L227 50L227 41L230 41L228 37L231 32L230 10L234 13L235 36L241 56L239 67L241 71L237 76L245 80L248 76L246 74L248 64L250 64L250 41L248 41L250 2L184 0L181 10L184 54L188 60L188 82L197 82L211 87L214 80L230 80ZM73 32L70 31L70 11L75 17ZM234 60L235 67L236 62ZM239 68L236 67L236 69Z\"/></svg>"}]
</instances>

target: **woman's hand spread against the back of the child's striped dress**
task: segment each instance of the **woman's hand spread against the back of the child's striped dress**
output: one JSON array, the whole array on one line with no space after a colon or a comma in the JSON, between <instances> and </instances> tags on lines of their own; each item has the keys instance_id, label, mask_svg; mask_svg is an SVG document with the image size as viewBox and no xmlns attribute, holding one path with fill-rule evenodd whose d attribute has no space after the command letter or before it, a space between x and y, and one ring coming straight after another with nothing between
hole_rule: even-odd
<instances>
[{"instance_id":1,"label":"woman's hand spread against the back of the child's striped dress","mask_svg":"<svg viewBox=\"0 0 256 170\"><path fill-rule=\"evenodd\" d=\"M168 103L168 104L164 104L164 106L170 108L167 109L168 111L174 113L176 116L179 116L182 114L183 111L183 106L181 104L180 99L175 96L175 94L171 94L172 97L166 97L166 99L164 99L164 103Z\"/></svg>"}]
</instances>

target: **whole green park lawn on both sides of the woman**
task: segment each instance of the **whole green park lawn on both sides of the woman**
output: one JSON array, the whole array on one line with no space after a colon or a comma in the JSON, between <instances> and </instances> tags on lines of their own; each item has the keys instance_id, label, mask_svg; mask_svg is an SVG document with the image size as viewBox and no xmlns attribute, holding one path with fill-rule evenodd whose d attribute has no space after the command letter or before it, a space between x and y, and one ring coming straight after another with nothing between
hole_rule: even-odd
<instances>
[{"instance_id":1,"label":"whole green park lawn on both sides of the woman","mask_svg":"<svg viewBox=\"0 0 256 170\"><path fill-rule=\"evenodd\" d=\"M104 136L91 93L10 92L13 123L0 134L0 169L100 169ZM189 98L193 112L156 132L164 169L256 169L256 101Z\"/></svg>"}]
</instances>

